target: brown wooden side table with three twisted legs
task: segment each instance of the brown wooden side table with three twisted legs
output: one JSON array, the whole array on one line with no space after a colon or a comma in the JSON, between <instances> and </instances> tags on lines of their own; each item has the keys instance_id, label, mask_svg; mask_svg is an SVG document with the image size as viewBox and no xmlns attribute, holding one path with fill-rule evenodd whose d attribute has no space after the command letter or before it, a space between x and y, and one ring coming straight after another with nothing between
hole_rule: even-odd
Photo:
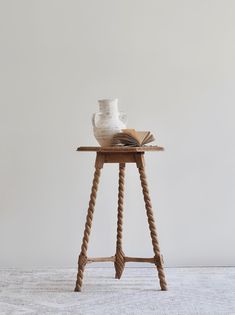
<instances>
[{"instance_id":1,"label":"brown wooden side table with three twisted legs","mask_svg":"<svg viewBox=\"0 0 235 315\"><path fill-rule=\"evenodd\" d=\"M75 291L81 291L83 273L86 263L111 261L114 263L116 276L120 279L126 262L148 262L153 263L157 267L158 277L161 290L167 290L165 274L163 269L163 259L160 253L160 247L157 237L157 230L154 222L153 210L150 201L147 179L145 175L145 151L162 151L161 147L79 147L77 151L93 151L96 152L95 173L91 189L90 202L87 211L84 236L82 240L81 253L78 257L78 274ZM93 213L95 208L96 194L99 184L100 172L104 163L119 163L119 187L118 187L118 215L117 215L117 241L116 253L112 257L88 258L87 248ZM150 235L152 239L154 257L153 258L135 258L125 256L122 249L122 222L123 222L123 200L124 200L124 179L125 179L125 163L136 163L140 174L140 181L143 189L146 213Z\"/></svg>"}]
</instances>

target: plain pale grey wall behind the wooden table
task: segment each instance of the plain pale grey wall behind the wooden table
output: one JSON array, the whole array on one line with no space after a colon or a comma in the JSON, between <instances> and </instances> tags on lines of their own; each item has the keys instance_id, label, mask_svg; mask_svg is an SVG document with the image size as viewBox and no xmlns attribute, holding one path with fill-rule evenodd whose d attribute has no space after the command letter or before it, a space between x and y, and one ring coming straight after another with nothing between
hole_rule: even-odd
<instances>
[{"instance_id":1,"label":"plain pale grey wall behind the wooden table","mask_svg":"<svg viewBox=\"0 0 235 315\"><path fill-rule=\"evenodd\" d=\"M76 266L97 99L164 153L147 173L168 266L234 265L235 1L0 1L0 266ZM90 255L115 249L117 167L106 166ZM127 168L124 248L152 256Z\"/></svg>"}]
</instances>

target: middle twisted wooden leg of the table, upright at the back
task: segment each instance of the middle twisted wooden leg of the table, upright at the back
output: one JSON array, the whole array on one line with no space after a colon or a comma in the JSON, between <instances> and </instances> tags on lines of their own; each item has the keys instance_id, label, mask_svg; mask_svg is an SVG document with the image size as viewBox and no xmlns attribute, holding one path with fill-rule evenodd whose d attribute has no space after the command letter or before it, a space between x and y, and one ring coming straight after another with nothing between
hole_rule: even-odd
<instances>
[{"instance_id":1,"label":"middle twisted wooden leg of the table, upright at the back","mask_svg":"<svg viewBox=\"0 0 235 315\"><path fill-rule=\"evenodd\" d=\"M124 201L125 163L119 164L119 186L118 186L118 216L117 216L117 243L115 255L116 279L120 279L125 266L125 255L122 251L122 223L123 223L123 201Z\"/></svg>"}]
</instances>

